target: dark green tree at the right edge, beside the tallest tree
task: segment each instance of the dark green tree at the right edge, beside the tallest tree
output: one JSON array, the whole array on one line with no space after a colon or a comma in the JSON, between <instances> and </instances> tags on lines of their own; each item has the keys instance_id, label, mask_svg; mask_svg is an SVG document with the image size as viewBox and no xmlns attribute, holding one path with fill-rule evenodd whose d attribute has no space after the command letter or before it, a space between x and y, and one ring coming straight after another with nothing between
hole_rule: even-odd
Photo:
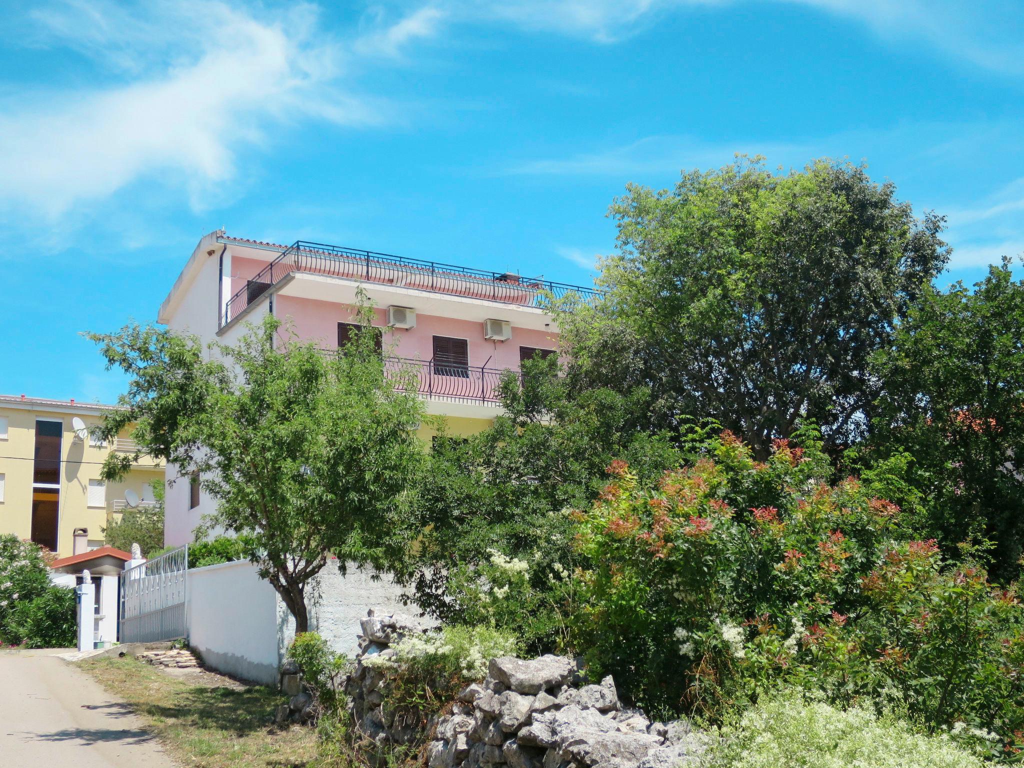
<instances>
[{"instance_id":1,"label":"dark green tree at the right edge, beside the tallest tree","mask_svg":"<svg viewBox=\"0 0 1024 768\"><path fill-rule=\"evenodd\" d=\"M1009 261L970 290L930 289L877 353L885 382L865 462L912 457L904 475L923 497L922 526L946 551L969 538L995 545L994 572L1024 552L1024 281Z\"/></svg>"}]
</instances>

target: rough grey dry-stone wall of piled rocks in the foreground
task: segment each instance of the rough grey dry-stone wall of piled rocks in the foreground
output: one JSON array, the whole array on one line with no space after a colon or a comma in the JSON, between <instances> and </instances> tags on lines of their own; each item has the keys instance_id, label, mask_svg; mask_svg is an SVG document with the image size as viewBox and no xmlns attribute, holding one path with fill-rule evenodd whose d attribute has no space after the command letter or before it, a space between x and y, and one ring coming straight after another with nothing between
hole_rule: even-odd
<instances>
[{"instance_id":1,"label":"rough grey dry-stone wall of piled rocks in the foreground","mask_svg":"<svg viewBox=\"0 0 1024 768\"><path fill-rule=\"evenodd\" d=\"M677 768L703 751L686 721L651 722L624 709L614 681L584 684L577 660L545 655L490 659L486 679L459 694L451 711L429 722L389 712L385 675L371 655L394 655L402 637L424 633L400 614L362 620L359 654L345 690L361 732L379 745L426 738L429 768Z\"/></svg>"}]
</instances>

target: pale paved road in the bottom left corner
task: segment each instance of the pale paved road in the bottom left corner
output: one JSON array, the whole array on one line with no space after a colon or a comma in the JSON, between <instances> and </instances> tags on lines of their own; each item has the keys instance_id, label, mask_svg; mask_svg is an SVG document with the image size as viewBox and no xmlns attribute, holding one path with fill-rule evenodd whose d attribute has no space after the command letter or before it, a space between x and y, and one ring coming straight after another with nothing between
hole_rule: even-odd
<instances>
[{"instance_id":1,"label":"pale paved road in the bottom left corner","mask_svg":"<svg viewBox=\"0 0 1024 768\"><path fill-rule=\"evenodd\" d=\"M46 652L0 652L0 768L174 768L126 703Z\"/></svg>"}]
</instances>

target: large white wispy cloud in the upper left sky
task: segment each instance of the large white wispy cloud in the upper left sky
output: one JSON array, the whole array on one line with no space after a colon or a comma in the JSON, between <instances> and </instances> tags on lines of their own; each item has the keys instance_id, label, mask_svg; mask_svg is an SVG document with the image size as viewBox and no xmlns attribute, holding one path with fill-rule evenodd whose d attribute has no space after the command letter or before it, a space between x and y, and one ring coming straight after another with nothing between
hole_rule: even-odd
<instances>
[{"instance_id":1,"label":"large white wispy cloud in the upper left sky","mask_svg":"<svg viewBox=\"0 0 1024 768\"><path fill-rule=\"evenodd\" d=\"M265 15L218 0L36 7L26 46L75 50L116 77L92 89L8 89L0 216L56 220L157 175L202 209L272 128L386 122L386 102L346 82L351 59L360 48L396 54L438 17L424 9L342 45L305 4Z\"/></svg>"}]
</instances>

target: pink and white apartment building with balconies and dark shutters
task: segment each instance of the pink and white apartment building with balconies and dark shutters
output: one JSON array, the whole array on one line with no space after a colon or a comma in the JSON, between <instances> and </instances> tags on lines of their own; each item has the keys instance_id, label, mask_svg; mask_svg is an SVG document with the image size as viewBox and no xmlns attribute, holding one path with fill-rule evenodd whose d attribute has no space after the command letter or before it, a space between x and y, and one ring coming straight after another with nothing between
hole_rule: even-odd
<instances>
[{"instance_id":1,"label":"pink and white apartment building with balconies and dark shutters","mask_svg":"<svg viewBox=\"0 0 1024 768\"><path fill-rule=\"evenodd\" d=\"M236 341L266 314L290 322L298 337L326 349L344 345L354 323L356 291L367 294L381 329L386 364L411 368L428 414L449 434L484 429L500 413L497 384L522 359L553 354L558 331L550 297L593 289L299 241L273 245L204 237L160 307L158 319L204 342ZM540 350L540 351L539 351ZM420 436L433 435L424 424ZM168 479L175 477L168 467ZM198 485L167 489L165 544L190 542L212 501Z\"/></svg>"}]
</instances>

